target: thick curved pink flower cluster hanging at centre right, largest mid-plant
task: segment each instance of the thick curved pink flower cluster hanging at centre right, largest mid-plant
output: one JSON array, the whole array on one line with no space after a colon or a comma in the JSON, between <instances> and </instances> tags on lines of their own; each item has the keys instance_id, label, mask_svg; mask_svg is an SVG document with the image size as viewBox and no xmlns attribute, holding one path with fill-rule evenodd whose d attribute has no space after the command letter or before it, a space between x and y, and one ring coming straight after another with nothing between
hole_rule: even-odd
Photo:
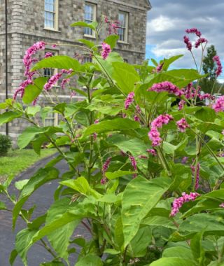
<instances>
[{"instance_id":1,"label":"thick curved pink flower cluster hanging at centre right, largest mid-plant","mask_svg":"<svg viewBox=\"0 0 224 266\"><path fill-rule=\"evenodd\" d=\"M151 123L151 130L148 132L148 137L152 141L153 147L159 146L162 142L162 139L160 138L160 132L158 131L158 128L161 128L162 125L167 125L169 121L173 120L174 118L168 114L160 115L158 118L155 118L153 122Z\"/></svg>"}]
</instances>

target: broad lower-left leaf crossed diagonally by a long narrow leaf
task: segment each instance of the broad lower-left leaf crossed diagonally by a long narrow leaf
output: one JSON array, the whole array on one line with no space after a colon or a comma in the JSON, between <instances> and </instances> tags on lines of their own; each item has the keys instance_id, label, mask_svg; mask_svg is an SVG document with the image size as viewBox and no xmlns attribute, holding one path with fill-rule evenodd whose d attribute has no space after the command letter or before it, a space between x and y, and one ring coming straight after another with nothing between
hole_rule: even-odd
<instances>
[{"instance_id":1,"label":"broad lower-left leaf crossed diagonally by a long narrow leaf","mask_svg":"<svg viewBox=\"0 0 224 266\"><path fill-rule=\"evenodd\" d=\"M52 204L50 209L48 209L45 225L49 225L52 221L56 221L58 218L62 217L66 211L75 207L76 204L71 204L71 200L69 198L65 197L57 200L57 202ZM52 248L55 249L59 257L64 258L66 261L69 258L69 240L78 223L79 220L73 221L48 234L48 240L50 241Z\"/></svg>"}]
</instances>

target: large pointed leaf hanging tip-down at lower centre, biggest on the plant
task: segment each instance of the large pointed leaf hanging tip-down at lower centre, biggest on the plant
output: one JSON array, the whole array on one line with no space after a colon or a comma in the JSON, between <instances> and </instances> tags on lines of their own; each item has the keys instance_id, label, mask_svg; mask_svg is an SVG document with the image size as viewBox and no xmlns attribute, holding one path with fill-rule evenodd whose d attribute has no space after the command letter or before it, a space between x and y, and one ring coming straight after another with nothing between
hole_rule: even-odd
<instances>
[{"instance_id":1,"label":"large pointed leaf hanging tip-down at lower centre, biggest on the plant","mask_svg":"<svg viewBox=\"0 0 224 266\"><path fill-rule=\"evenodd\" d=\"M122 201L124 246L127 246L137 234L141 221L169 189L170 183L169 179L148 181L137 177L127 184Z\"/></svg>"}]
</instances>

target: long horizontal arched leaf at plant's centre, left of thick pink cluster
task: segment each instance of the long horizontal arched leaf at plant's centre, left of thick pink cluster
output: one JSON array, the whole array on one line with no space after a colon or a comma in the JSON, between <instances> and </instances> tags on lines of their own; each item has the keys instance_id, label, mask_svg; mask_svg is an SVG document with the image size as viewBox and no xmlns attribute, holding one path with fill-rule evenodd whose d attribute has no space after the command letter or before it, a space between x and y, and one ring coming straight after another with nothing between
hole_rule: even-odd
<instances>
[{"instance_id":1,"label":"long horizontal arched leaf at plant's centre, left of thick pink cluster","mask_svg":"<svg viewBox=\"0 0 224 266\"><path fill-rule=\"evenodd\" d=\"M120 131L120 130L133 130L139 128L139 123L128 118L115 118L113 120L104 120L95 125L90 125L85 130L83 137L87 137L90 134Z\"/></svg>"}]
</instances>

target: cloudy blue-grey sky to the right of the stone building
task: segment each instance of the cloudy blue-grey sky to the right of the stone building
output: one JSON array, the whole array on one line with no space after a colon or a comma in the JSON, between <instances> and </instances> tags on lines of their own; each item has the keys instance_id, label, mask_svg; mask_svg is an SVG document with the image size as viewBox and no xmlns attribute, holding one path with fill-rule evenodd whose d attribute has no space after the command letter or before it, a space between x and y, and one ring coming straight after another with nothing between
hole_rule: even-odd
<instances>
[{"instance_id":1,"label":"cloudy blue-grey sky to the right of the stone building","mask_svg":"<svg viewBox=\"0 0 224 266\"><path fill-rule=\"evenodd\" d=\"M194 68L193 58L183 43L185 30L196 27L207 38L208 46L215 45L224 71L224 1L223 0L151 0L148 12L146 58L169 58L184 55L176 61L176 68ZM195 34L188 34L193 43ZM201 50L193 48L200 64ZM221 75L224 82L224 74Z\"/></svg>"}]
</instances>

